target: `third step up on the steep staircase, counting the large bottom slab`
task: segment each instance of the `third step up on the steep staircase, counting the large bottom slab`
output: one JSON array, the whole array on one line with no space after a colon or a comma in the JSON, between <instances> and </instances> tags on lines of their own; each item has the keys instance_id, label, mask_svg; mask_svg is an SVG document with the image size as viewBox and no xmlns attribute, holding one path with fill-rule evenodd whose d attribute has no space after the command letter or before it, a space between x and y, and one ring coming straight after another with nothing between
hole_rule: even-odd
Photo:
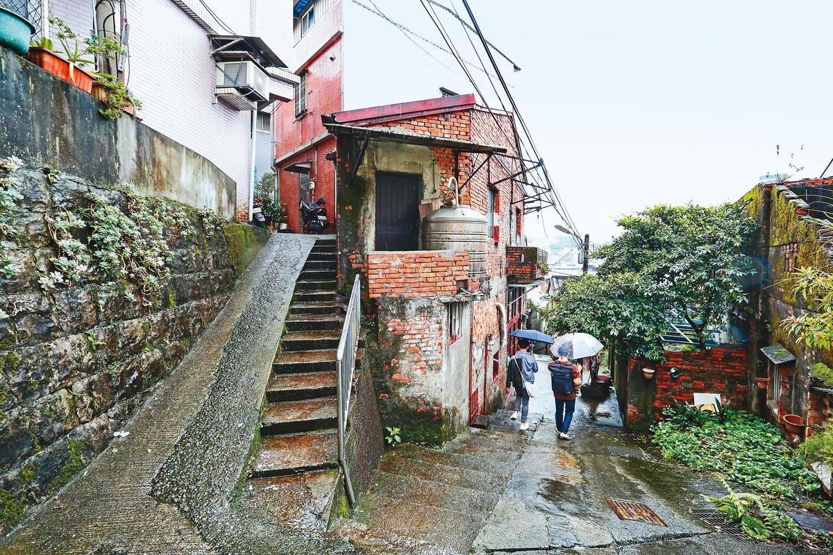
<instances>
[{"instance_id":1,"label":"third step up on the steep staircase, counting the large bottom slab","mask_svg":"<svg viewBox=\"0 0 833 555\"><path fill-rule=\"evenodd\" d=\"M261 419L261 435L267 437L335 428L337 406L335 397L267 404Z\"/></svg>"}]
</instances>

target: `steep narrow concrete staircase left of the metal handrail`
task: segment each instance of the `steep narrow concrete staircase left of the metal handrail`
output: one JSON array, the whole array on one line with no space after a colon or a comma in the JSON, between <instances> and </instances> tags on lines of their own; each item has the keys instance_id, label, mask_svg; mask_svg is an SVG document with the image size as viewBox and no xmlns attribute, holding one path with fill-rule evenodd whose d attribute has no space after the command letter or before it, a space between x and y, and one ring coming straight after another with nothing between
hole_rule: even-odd
<instances>
[{"instance_id":1,"label":"steep narrow concrete staircase left of the metal handrail","mask_svg":"<svg viewBox=\"0 0 833 555\"><path fill-rule=\"evenodd\" d=\"M252 493L275 518L301 528L327 526L340 484L336 350L344 305L336 273L336 240L322 236L295 286L250 470Z\"/></svg>"}]
</instances>

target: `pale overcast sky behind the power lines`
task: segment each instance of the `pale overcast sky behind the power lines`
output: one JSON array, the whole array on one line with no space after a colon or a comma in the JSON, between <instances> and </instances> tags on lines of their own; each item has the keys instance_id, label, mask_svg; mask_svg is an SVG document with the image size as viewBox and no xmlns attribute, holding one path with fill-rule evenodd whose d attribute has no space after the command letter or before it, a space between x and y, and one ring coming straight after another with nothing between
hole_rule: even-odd
<instances>
[{"instance_id":1,"label":"pale overcast sky behind the power lines","mask_svg":"<svg viewBox=\"0 0 833 555\"><path fill-rule=\"evenodd\" d=\"M466 17L461 0L439 1ZM414 38L437 62L343 2L347 108L436 97L441 86L474 92L451 55ZM419 0L374 2L444 46ZM594 241L645 206L733 201L768 172L817 177L833 157L830 0L470 5L486 38L522 68L496 57L578 230ZM479 65L460 23L435 9ZM471 73L491 92L483 72ZM497 105L493 92L486 100ZM791 152L805 171L790 170ZM541 220L546 234L527 225L531 242L556 234L555 215Z\"/></svg>"}]
</instances>

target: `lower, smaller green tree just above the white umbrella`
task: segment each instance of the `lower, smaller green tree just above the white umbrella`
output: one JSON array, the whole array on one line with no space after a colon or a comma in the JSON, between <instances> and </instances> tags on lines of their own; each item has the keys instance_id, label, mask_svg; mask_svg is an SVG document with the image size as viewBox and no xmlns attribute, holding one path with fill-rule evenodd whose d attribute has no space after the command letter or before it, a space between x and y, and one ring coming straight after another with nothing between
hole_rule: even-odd
<instances>
[{"instance_id":1,"label":"lower, smaller green tree just above the white umbrella","mask_svg":"<svg viewBox=\"0 0 833 555\"><path fill-rule=\"evenodd\" d=\"M633 272L582 275L564 282L556 300L541 313L551 334L584 332L623 354L659 360L660 336L668 322L650 290Z\"/></svg>"}]
</instances>

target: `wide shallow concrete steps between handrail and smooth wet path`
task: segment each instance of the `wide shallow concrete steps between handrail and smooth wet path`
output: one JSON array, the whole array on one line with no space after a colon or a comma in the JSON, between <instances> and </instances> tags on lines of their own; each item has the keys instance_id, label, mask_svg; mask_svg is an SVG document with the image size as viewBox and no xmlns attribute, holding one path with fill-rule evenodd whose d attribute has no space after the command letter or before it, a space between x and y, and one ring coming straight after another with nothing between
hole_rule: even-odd
<instances>
[{"instance_id":1,"label":"wide shallow concrete steps between handrail and smooth wet path","mask_svg":"<svg viewBox=\"0 0 833 555\"><path fill-rule=\"evenodd\" d=\"M490 417L496 425L470 429L440 450L394 448L353 520L342 521L337 533L380 555L469 553L531 437L510 414L497 411ZM535 429L541 415L528 420Z\"/></svg>"}]
</instances>

